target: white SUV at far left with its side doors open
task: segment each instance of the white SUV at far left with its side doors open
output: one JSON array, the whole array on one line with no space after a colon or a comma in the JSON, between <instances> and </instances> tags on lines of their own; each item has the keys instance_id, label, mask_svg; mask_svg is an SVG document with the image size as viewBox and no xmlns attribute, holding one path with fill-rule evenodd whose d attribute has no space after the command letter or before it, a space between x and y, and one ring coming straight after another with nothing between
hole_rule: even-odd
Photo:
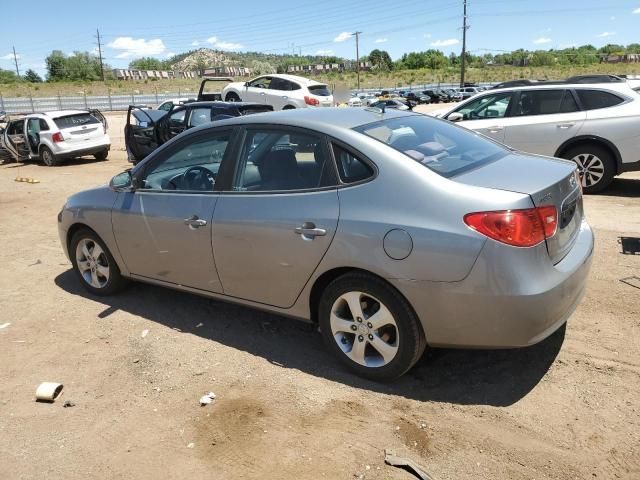
<instances>
[{"instance_id":1,"label":"white SUV at far left with its side doors open","mask_svg":"<svg viewBox=\"0 0 640 480\"><path fill-rule=\"evenodd\" d=\"M57 110L9 120L0 136L0 157L39 160L47 166L93 155L106 160L111 148L107 120L98 110Z\"/></svg>"}]
</instances>

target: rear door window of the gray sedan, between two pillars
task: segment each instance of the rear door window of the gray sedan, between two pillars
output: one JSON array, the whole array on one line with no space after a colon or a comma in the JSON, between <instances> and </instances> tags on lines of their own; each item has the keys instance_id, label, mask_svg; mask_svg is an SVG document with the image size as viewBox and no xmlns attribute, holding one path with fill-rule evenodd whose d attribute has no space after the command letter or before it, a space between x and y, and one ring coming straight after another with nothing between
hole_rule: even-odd
<instances>
[{"instance_id":1,"label":"rear door window of the gray sedan, between two pillars","mask_svg":"<svg viewBox=\"0 0 640 480\"><path fill-rule=\"evenodd\" d=\"M235 191L282 191L334 184L331 161L319 135L248 130L233 182Z\"/></svg>"}]
</instances>

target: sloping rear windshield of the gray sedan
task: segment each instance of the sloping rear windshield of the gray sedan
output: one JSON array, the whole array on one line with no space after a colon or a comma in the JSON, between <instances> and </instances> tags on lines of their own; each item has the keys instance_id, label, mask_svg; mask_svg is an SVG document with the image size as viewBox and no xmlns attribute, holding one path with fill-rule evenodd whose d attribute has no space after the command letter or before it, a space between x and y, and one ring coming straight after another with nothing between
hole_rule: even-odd
<instances>
[{"instance_id":1,"label":"sloping rear windshield of the gray sedan","mask_svg":"<svg viewBox=\"0 0 640 480\"><path fill-rule=\"evenodd\" d=\"M509 153L477 133L425 115L390 118L354 130L399 150L443 177L453 177Z\"/></svg>"}]
</instances>

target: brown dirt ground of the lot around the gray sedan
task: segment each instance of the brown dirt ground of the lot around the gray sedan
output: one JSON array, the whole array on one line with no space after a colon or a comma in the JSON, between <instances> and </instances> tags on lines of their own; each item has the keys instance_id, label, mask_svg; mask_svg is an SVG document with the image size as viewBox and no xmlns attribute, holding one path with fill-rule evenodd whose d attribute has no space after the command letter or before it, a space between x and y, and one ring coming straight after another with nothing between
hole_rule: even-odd
<instances>
[{"instance_id":1,"label":"brown dirt ground of the lot around the gray sedan","mask_svg":"<svg viewBox=\"0 0 640 480\"><path fill-rule=\"evenodd\" d=\"M87 294L56 215L126 167L117 149L0 166L0 478L413 478L385 449L439 480L640 478L640 290L620 282L640 256L617 243L640 236L640 174L585 198L595 260L566 331L429 351L380 385L301 322L143 284ZM34 401L42 381L64 383L55 403Z\"/></svg>"}]
</instances>

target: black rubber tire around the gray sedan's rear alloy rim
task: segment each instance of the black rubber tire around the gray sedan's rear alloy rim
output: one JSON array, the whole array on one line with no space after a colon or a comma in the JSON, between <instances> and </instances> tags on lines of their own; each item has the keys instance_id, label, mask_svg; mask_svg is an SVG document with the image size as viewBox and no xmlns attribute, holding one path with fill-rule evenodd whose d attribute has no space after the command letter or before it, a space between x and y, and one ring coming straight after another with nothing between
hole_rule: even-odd
<instances>
[{"instance_id":1,"label":"black rubber tire around the gray sedan's rear alloy rim","mask_svg":"<svg viewBox=\"0 0 640 480\"><path fill-rule=\"evenodd\" d=\"M331 331L331 310L334 303L348 292L370 295L384 304L393 316L397 327L397 353L388 363L381 366L361 365L349 358L338 346L338 340ZM402 376L420 359L427 345L420 320L407 300L384 280L365 272L347 273L327 286L318 306L318 320L329 350L349 369L370 380L387 382ZM364 321L366 323L366 318ZM379 333L379 330L376 332ZM357 340L358 336L354 333L353 343ZM345 344L344 340L342 343ZM370 348L373 348L371 344L365 346L365 351Z\"/></svg>"}]
</instances>

